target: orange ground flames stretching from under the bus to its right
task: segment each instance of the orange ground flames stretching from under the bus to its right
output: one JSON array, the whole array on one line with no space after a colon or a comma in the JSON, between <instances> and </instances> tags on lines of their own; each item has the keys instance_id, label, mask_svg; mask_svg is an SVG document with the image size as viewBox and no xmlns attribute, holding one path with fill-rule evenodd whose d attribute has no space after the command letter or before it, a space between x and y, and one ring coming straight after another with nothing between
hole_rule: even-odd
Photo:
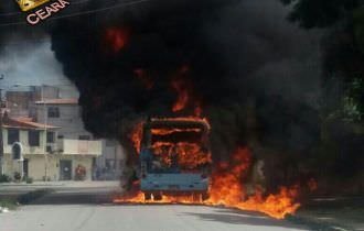
<instances>
[{"instance_id":1,"label":"orange ground flames stretching from under the bus to its right","mask_svg":"<svg viewBox=\"0 0 364 231\"><path fill-rule=\"evenodd\" d=\"M201 204L208 206L226 206L240 210L260 211L276 219L283 219L287 215L295 213L300 207L295 202L298 197L298 186L281 187L278 194L264 196L258 188L253 196L247 196L242 180L250 165L250 153L247 148L238 148L232 163L222 163L212 176L210 198L191 196L162 196L161 200L146 200L141 191L129 197L116 198L115 202L136 204Z\"/></svg>"}]
</instances>

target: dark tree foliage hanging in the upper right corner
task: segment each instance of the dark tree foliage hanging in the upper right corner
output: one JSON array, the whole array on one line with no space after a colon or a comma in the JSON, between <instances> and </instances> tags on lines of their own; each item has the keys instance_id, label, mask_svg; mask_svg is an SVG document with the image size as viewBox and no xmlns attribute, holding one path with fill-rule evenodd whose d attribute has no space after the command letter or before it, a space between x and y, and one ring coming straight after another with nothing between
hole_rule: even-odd
<instances>
[{"instance_id":1,"label":"dark tree foliage hanging in the upper right corner","mask_svg":"<svg viewBox=\"0 0 364 231\"><path fill-rule=\"evenodd\" d=\"M347 82L331 114L345 122L363 120L364 6L360 0L281 0L292 6L289 19L302 28L326 28L345 21L332 30L324 41L324 65L330 74ZM355 74L355 75L353 75Z\"/></svg>"}]
</instances>

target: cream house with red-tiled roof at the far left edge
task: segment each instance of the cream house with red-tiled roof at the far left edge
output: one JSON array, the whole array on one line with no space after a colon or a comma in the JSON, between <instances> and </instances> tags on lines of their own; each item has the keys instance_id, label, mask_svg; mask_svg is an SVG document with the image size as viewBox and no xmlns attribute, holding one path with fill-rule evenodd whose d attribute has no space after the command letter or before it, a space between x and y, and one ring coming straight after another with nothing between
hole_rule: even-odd
<instances>
[{"instance_id":1,"label":"cream house with red-tiled roof at the far left edge","mask_svg":"<svg viewBox=\"0 0 364 231\"><path fill-rule=\"evenodd\" d=\"M4 116L3 173L11 177L19 173L36 180L57 179L56 158L45 153L46 131L56 130L56 127L35 123L30 119L10 119Z\"/></svg>"}]
</instances>

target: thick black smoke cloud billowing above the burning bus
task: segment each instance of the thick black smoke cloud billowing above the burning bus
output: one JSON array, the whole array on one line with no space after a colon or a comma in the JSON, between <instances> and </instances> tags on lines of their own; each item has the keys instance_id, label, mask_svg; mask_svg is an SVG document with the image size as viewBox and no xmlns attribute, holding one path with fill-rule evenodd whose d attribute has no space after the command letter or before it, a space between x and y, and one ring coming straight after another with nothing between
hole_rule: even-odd
<instances>
[{"instance_id":1,"label":"thick black smoke cloud billowing above the burning bus","mask_svg":"<svg viewBox=\"0 0 364 231\"><path fill-rule=\"evenodd\" d=\"M88 130L128 146L135 121L175 116L171 80L182 78L212 122L215 160L224 160L253 133L299 151L318 138L319 42L289 24L287 11L276 0L150 1L57 21L51 35L81 91ZM105 38L115 29L125 36L118 51ZM255 132L247 124L251 101Z\"/></svg>"}]
</instances>

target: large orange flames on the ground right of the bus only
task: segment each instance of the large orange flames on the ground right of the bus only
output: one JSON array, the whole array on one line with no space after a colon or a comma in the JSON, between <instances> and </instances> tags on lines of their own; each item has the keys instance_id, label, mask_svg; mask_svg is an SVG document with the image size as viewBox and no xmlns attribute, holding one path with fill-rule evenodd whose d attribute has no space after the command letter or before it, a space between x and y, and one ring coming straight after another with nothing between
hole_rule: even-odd
<instances>
[{"instance_id":1,"label":"large orange flames on the ground right of the bus only","mask_svg":"<svg viewBox=\"0 0 364 231\"><path fill-rule=\"evenodd\" d=\"M277 195L264 197L261 190L256 189L255 195L245 195L242 180L250 165L250 153L247 148L238 148L233 155L233 162L217 169L212 177L211 197L208 205L224 205L242 210L264 212L272 218L283 219L288 213L295 213L299 204L295 200L298 187L281 187Z\"/></svg>"}]
</instances>

